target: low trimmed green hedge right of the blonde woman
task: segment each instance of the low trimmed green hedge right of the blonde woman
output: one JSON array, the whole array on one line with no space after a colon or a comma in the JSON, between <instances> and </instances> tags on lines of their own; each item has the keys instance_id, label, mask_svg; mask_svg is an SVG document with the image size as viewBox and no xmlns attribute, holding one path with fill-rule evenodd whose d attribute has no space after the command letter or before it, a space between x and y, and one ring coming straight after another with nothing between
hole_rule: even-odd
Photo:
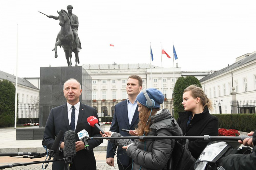
<instances>
[{"instance_id":1,"label":"low trimmed green hedge right of the blonde woman","mask_svg":"<svg viewBox=\"0 0 256 170\"><path fill-rule=\"evenodd\" d=\"M256 114L212 114L219 119L219 128L236 129L242 132L256 130Z\"/></svg>"}]
</instances>

